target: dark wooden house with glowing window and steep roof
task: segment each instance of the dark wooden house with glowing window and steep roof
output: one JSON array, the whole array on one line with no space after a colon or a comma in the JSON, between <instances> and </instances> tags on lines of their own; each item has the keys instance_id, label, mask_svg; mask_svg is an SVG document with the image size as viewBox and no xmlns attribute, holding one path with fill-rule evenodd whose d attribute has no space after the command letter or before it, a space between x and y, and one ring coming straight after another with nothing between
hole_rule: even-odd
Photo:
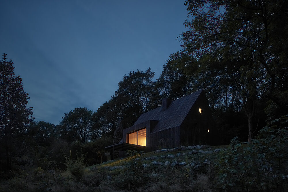
<instances>
[{"instance_id":1,"label":"dark wooden house with glowing window and steep roof","mask_svg":"<svg viewBox=\"0 0 288 192\"><path fill-rule=\"evenodd\" d=\"M189 145L205 145L211 140L211 112L202 90L143 113L133 126L123 129L119 144L106 149L154 151Z\"/></svg>"}]
</instances>

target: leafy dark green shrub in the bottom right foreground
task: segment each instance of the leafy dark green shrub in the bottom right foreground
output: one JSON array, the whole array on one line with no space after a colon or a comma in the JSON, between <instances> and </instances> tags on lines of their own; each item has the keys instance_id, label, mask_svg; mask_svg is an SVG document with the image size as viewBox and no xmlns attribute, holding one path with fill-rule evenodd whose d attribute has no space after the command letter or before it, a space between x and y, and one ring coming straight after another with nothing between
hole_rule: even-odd
<instances>
[{"instance_id":1,"label":"leafy dark green shrub in the bottom right foreground","mask_svg":"<svg viewBox=\"0 0 288 192\"><path fill-rule=\"evenodd\" d=\"M219 188L235 191L287 191L288 115L259 131L252 144L231 140L218 165Z\"/></svg>"}]
</instances>

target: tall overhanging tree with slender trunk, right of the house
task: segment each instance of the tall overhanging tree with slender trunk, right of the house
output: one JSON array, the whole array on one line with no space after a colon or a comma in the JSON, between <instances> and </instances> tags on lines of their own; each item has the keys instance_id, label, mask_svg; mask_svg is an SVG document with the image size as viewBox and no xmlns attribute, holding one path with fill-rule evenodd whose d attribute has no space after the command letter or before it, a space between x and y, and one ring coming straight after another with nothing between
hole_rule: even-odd
<instances>
[{"instance_id":1,"label":"tall overhanging tree with slender trunk, right of the house","mask_svg":"<svg viewBox=\"0 0 288 192\"><path fill-rule=\"evenodd\" d=\"M192 19L185 21L189 30L181 35L183 52L197 59L204 54L229 52L226 59L242 63L237 69L242 71L243 105L248 119L253 118L253 106L259 97L269 98L287 111L287 84L281 81L288 70L288 24L282 22L288 18L288 2L186 0L185 5ZM259 85L260 79L269 87L267 91L261 89L264 86Z\"/></svg>"}]
</instances>

